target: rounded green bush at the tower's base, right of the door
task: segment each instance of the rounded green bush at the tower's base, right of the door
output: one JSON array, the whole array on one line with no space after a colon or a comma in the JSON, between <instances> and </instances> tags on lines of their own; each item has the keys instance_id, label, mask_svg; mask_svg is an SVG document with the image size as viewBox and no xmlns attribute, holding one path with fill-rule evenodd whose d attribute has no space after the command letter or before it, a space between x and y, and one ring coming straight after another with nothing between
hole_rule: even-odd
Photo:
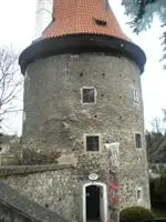
<instances>
[{"instance_id":1,"label":"rounded green bush at the tower's base, right of the door","mask_svg":"<svg viewBox=\"0 0 166 222\"><path fill-rule=\"evenodd\" d=\"M121 221L142 221L153 219L154 214L151 210L143 206L129 206L120 212Z\"/></svg>"}]
</instances>

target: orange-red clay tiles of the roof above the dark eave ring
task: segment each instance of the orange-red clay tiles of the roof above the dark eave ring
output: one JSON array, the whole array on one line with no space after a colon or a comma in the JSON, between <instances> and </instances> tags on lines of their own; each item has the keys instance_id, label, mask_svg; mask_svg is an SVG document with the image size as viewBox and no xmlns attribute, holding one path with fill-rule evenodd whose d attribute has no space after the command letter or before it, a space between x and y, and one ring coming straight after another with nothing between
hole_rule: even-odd
<instances>
[{"instance_id":1,"label":"orange-red clay tiles of the roof above the dark eave ring","mask_svg":"<svg viewBox=\"0 0 166 222\"><path fill-rule=\"evenodd\" d=\"M106 26L96 24L96 20L106 22ZM53 22L44 30L42 38L80 33L104 34L129 41L112 9L106 9L106 0L54 0Z\"/></svg>"}]
</instances>

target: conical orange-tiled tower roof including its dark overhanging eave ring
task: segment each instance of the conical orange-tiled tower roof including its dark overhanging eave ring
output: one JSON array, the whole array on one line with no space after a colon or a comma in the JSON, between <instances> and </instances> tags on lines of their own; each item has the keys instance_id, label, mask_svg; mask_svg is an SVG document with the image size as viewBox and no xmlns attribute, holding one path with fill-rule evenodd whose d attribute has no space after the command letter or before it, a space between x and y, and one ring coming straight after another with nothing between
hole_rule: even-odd
<instances>
[{"instance_id":1,"label":"conical orange-tiled tower roof including its dark overhanging eave ring","mask_svg":"<svg viewBox=\"0 0 166 222\"><path fill-rule=\"evenodd\" d=\"M144 70L146 57L122 31L108 0L53 0L53 19L19 58L22 73L29 63L54 54L102 52L123 56Z\"/></svg>"}]
</instances>

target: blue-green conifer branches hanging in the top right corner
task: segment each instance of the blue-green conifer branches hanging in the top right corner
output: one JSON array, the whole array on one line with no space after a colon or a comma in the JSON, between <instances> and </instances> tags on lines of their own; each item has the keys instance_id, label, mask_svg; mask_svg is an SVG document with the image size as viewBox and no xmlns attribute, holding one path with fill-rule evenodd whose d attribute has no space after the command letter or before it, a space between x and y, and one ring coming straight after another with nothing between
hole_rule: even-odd
<instances>
[{"instance_id":1,"label":"blue-green conifer branches hanging in the top right corner","mask_svg":"<svg viewBox=\"0 0 166 222\"><path fill-rule=\"evenodd\" d=\"M122 4L125 7L125 13L131 17L129 26L135 33L149 29L155 16L159 18L160 26L166 28L165 0L122 0ZM166 59L166 31L163 31L162 44L163 59Z\"/></svg>"}]
</instances>

